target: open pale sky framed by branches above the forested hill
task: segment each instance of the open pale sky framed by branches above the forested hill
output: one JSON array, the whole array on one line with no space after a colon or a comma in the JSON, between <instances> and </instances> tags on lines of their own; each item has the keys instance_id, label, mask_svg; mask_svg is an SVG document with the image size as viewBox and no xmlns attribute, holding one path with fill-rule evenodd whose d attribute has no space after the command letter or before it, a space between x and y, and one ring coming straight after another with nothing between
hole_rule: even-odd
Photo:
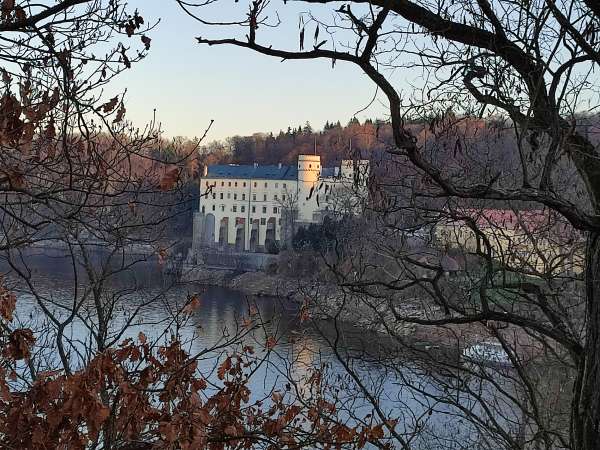
<instances>
[{"instance_id":1,"label":"open pale sky framed by branches above the forested hill","mask_svg":"<svg viewBox=\"0 0 600 450\"><path fill-rule=\"evenodd\" d=\"M199 136L211 119L215 123L208 140L275 133L307 120L321 128L326 120L347 121L375 92L360 70L348 64L338 63L332 69L329 61L282 63L244 49L201 46L196 36L223 31L193 21L174 1L130 0L129 4L147 20L161 19L150 34L148 58L112 86L127 88L127 115L136 125L148 122L156 108L168 136ZM282 0L273 4L297 23L294 6L284 7ZM219 14L243 14L247 8L244 0L219 5ZM297 29L288 27L277 33L279 42L297 47ZM357 117L363 120L384 113L385 108L376 103Z\"/></svg>"}]
</instances>

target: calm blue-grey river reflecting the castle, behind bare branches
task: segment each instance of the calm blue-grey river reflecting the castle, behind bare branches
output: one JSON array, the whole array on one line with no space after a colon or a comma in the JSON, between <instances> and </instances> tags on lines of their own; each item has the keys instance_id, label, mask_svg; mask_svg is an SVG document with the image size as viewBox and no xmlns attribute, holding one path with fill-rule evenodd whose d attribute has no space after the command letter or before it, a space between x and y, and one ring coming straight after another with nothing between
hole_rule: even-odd
<instances>
[{"instance_id":1,"label":"calm blue-grey river reflecting the castle, behind bare branches","mask_svg":"<svg viewBox=\"0 0 600 450\"><path fill-rule=\"evenodd\" d=\"M15 268L2 266L6 282L18 298L15 320L36 332L38 347L34 360L39 362L40 368L44 364L57 365L56 327L42 320L45 315L40 303L57 317L65 317L67 308L87 295L89 282L82 273L75 275L70 261L65 258L30 256L19 263L18 270L25 267L30 275L30 285L16 275ZM301 384L311 368L321 367L325 369L329 384L340 388L340 392L335 393L337 403L348 417L373 413L372 405L363 395L368 390L386 415L398 419L401 433L409 435L419 427L421 437L415 439L415 448L458 449L465 448L467 442L474 442L472 438L478 439L473 434L474 429L455 415L455 409L433 400L432 396L457 395L449 392L447 385L440 385L443 377L428 375L421 366L417 369L410 360L399 358L397 354L386 356L383 350L389 340L381 335L348 324L334 329L327 323L318 326L303 323L297 305L288 300L249 297L236 291L193 283L174 283L162 275L155 263L144 263L111 277L105 295L116 305L112 321L115 345L126 338L136 339L140 332L149 340L162 342L177 332L187 351L195 354L226 342L228 336L240 330L249 311L256 308L255 317L260 318L264 328L246 336L244 344L253 345L258 357L266 357L266 336L274 336L277 341L268 360L251 380L250 388L256 398L268 395L272 390L285 389L290 379ZM189 320L180 323L177 311L192 295L199 297L200 305ZM80 319L65 329L74 365L90 345L90 327L93 331L97 322L92 301L81 301ZM134 311L136 317L131 321ZM339 343L334 351L331 342L336 338ZM216 381L216 361L231 350L225 346L204 355L199 370ZM359 374L362 386L348 376L344 364L350 364ZM465 404L469 401L465 399Z\"/></svg>"}]
</instances>

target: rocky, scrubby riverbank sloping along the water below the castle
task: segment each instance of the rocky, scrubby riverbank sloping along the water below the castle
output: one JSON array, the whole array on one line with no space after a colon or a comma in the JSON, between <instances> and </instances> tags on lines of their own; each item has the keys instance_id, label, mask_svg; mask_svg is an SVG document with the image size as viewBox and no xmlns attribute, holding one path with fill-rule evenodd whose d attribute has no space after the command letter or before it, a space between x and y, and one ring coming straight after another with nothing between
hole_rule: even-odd
<instances>
[{"instance_id":1,"label":"rocky, scrubby riverbank sloping along the water below the castle","mask_svg":"<svg viewBox=\"0 0 600 450\"><path fill-rule=\"evenodd\" d=\"M265 272L235 273L232 270L192 267L184 271L182 280L226 287L251 296L285 298L301 305L312 319L336 320L365 331L407 337L429 345L462 349L490 338L490 330L479 322L426 326L398 320L397 317L405 317L419 322L443 317L437 305L418 298L404 299L391 309L387 299L365 299L343 292L331 283L291 279ZM514 334L516 330L509 331ZM520 336L519 340L524 342L524 337Z\"/></svg>"}]
</instances>

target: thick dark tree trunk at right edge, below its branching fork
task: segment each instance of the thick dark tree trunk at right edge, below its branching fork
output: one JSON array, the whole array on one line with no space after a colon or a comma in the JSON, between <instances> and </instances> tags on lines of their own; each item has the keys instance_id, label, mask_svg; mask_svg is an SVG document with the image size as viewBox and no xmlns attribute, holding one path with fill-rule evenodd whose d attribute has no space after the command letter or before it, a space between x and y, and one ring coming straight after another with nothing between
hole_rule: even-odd
<instances>
[{"instance_id":1,"label":"thick dark tree trunk at right edge, below its branching fork","mask_svg":"<svg viewBox=\"0 0 600 450\"><path fill-rule=\"evenodd\" d=\"M578 362L571 417L573 450L600 449L600 233L586 246L586 336Z\"/></svg>"}]
</instances>

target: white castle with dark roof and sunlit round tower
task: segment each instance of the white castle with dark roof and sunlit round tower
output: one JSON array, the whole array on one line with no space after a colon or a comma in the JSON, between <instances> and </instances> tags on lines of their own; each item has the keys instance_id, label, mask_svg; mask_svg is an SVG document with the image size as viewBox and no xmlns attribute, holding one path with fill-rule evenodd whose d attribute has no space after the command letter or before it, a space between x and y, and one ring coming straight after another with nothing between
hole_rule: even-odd
<instances>
[{"instance_id":1,"label":"white castle with dark roof and sunlit round tower","mask_svg":"<svg viewBox=\"0 0 600 450\"><path fill-rule=\"evenodd\" d=\"M208 166L194 216L195 250L231 246L263 251L287 238L290 224L294 230L325 216L359 214L368 175L368 161L345 160L340 167L323 168L318 155L298 156L297 166Z\"/></svg>"}]
</instances>

